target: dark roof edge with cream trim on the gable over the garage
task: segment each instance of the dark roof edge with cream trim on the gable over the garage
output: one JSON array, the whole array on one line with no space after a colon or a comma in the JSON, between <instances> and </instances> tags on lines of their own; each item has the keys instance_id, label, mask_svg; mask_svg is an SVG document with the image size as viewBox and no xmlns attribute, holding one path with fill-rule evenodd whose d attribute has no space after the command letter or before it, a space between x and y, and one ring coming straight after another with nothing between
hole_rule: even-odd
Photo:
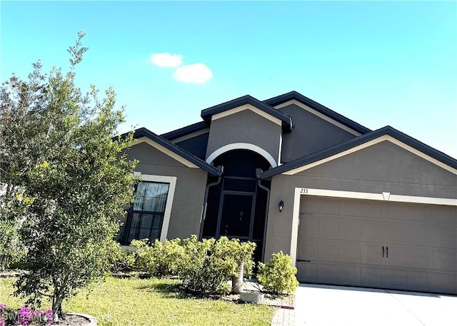
<instances>
[{"instance_id":1,"label":"dark roof edge with cream trim on the gable over the garage","mask_svg":"<svg viewBox=\"0 0 457 326\"><path fill-rule=\"evenodd\" d=\"M410 151L417 156L421 156L427 161L430 161L431 163L434 163L457 175L457 160L455 158L451 158L451 156L437 151L435 148L431 148L415 138L412 138L405 133L401 133L391 126L386 126L376 131L372 131L371 133L366 133L363 136L353 138L350 141L332 146L331 148L327 148L323 151L318 151L317 153L313 153L309 156L298 158L295 161L280 165L277 168L266 170L262 173L261 178L270 178L273 175L281 173L293 175L303 170L307 170L308 168L313 168L314 166L353 153L354 151L359 151L368 146L380 143L381 141L391 141L392 143L405 148L407 151Z\"/></svg>"}]
</instances>

